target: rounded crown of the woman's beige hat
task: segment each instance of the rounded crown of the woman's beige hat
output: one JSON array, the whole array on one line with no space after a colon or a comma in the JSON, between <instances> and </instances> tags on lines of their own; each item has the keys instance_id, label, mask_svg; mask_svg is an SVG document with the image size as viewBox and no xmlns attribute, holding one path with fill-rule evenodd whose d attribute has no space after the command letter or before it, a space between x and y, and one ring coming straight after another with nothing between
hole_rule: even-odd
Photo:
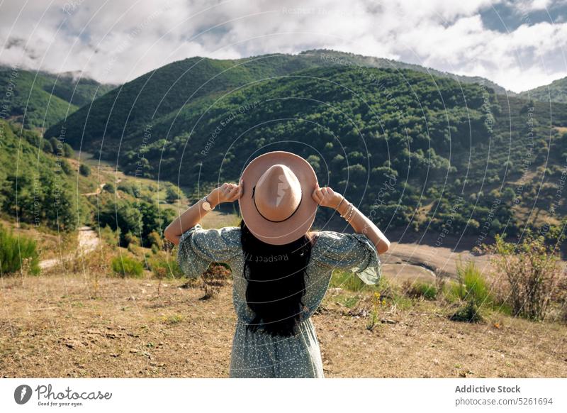
<instances>
[{"instance_id":1,"label":"rounded crown of the woman's beige hat","mask_svg":"<svg viewBox=\"0 0 567 413\"><path fill-rule=\"evenodd\" d=\"M254 189L256 208L269 221L285 221L298 209L300 202L301 183L286 165L269 167Z\"/></svg>"}]
</instances>

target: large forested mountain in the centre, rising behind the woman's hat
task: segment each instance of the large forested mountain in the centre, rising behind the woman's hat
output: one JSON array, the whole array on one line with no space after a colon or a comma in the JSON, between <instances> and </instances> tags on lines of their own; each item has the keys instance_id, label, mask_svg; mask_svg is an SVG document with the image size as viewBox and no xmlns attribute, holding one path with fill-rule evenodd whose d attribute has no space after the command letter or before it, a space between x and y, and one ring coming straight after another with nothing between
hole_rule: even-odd
<instances>
[{"instance_id":1,"label":"large forested mountain in the centre, rising behind the woman's hat","mask_svg":"<svg viewBox=\"0 0 567 413\"><path fill-rule=\"evenodd\" d=\"M261 153L291 150L383 228L513 235L567 213L554 204L567 105L550 114L424 70L313 53L193 57L113 89L45 136L62 126L75 148L195 196L237 180Z\"/></svg>"}]
</instances>

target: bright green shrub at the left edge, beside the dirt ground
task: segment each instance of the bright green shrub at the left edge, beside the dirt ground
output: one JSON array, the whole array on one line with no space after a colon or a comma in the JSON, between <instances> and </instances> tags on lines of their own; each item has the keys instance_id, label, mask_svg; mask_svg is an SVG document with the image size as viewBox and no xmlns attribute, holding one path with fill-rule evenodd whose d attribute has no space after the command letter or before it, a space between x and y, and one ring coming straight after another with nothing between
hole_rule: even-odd
<instances>
[{"instance_id":1,"label":"bright green shrub at the left edge, beside the dirt ground","mask_svg":"<svg viewBox=\"0 0 567 413\"><path fill-rule=\"evenodd\" d=\"M35 241L23 236L13 236L0 225L0 276L21 270L22 264L28 262L30 272L40 272L38 251Z\"/></svg>"}]
</instances>

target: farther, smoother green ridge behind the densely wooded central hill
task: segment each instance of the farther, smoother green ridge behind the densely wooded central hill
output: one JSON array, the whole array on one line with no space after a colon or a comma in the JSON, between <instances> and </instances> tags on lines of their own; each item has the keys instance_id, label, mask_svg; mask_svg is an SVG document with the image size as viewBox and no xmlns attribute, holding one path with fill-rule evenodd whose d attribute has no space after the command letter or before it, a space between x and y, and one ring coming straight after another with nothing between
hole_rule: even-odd
<instances>
[{"instance_id":1,"label":"farther, smoother green ridge behind the densely wooded central hill","mask_svg":"<svg viewBox=\"0 0 567 413\"><path fill-rule=\"evenodd\" d=\"M485 84L504 91L497 84L480 77L464 77L417 65L377 57L364 57L333 50L308 50L299 55L262 55L240 60L214 60L191 57L148 72L123 87L114 89L93 106L83 107L65 121L69 138L77 145L98 145L103 136L113 143L136 136L150 123L163 116L171 118L186 105L206 97L212 99L226 92L271 77L291 75L316 67L386 67L411 69L427 74L458 79L464 83ZM87 122L88 118L88 122ZM87 124L86 129L84 125ZM60 125L46 136L58 136ZM112 143L108 143L112 144ZM118 147L115 148L118 150Z\"/></svg>"}]
</instances>

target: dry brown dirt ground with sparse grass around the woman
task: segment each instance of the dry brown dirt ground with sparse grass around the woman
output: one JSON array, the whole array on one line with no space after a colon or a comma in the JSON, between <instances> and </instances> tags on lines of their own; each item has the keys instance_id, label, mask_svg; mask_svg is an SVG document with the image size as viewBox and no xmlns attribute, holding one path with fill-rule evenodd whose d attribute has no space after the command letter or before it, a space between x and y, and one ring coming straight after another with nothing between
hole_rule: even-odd
<instances>
[{"instance_id":1,"label":"dry brown dirt ground with sparse grass around the woman","mask_svg":"<svg viewBox=\"0 0 567 413\"><path fill-rule=\"evenodd\" d=\"M202 300L184 280L86 275L0 279L0 375L12 377L228 377L235 314L231 288ZM95 295L96 293L96 295ZM489 315L449 321L416 302L364 312L334 290L313 316L327 378L567 377L567 326Z\"/></svg>"}]
</instances>

